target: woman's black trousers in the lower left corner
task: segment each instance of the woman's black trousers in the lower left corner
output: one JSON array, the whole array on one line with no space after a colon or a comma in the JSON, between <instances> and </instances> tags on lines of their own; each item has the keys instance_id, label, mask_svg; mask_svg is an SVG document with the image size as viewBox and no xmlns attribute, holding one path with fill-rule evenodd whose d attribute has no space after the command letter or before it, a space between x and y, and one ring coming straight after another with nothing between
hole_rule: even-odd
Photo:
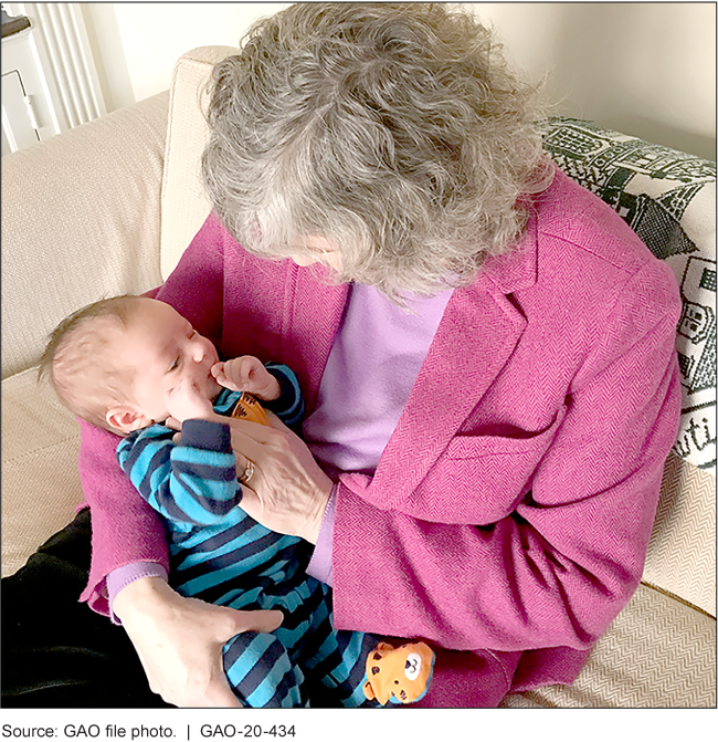
<instances>
[{"instance_id":1,"label":"woman's black trousers in the lower left corner","mask_svg":"<svg viewBox=\"0 0 718 742\"><path fill-rule=\"evenodd\" d=\"M89 554L83 510L2 578L3 708L167 708L123 627L77 602Z\"/></svg>"}]
</instances>

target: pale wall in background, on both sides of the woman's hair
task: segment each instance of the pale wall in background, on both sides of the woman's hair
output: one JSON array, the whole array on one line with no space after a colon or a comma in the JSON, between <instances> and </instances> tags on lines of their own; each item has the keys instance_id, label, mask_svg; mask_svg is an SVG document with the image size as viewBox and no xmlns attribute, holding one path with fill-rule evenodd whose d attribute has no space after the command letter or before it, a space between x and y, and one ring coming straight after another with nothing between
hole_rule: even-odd
<instances>
[{"instance_id":1,"label":"pale wall in background, on both sides of the woman's hair","mask_svg":"<svg viewBox=\"0 0 718 742\"><path fill-rule=\"evenodd\" d=\"M169 87L182 52L236 45L286 3L83 3L108 109ZM472 3L557 113L715 159L716 6L687 2Z\"/></svg>"}]
</instances>

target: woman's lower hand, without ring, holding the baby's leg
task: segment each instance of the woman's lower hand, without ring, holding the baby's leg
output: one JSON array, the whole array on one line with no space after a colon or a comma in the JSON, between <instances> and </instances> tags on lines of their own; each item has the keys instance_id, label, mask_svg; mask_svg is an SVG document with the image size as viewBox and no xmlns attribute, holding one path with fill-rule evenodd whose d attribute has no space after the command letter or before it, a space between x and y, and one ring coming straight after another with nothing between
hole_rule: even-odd
<instances>
[{"instance_id":1,"label":"woman's lower hand, without ring, holding the baby's leg","mask_svg":"<svg viewBox=\"0 0 718 742\"><path fill-rule=\"evenodd\" d=\"M178 595L160 577L136 579L113 608L142 662L149 687L178 707L241 707L222 647L242 631L273 631L278 610L235 610Z\"/></svg>"}]
</instances>

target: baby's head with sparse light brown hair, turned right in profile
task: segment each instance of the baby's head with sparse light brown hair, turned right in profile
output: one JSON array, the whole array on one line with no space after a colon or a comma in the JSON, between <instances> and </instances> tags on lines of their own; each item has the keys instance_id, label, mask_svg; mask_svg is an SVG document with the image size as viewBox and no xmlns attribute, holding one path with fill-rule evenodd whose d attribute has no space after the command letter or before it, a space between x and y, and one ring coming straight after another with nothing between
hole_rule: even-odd
<instances>
[{"instance_id":1,"label":"baby's head with sparse light brown hair, turned right in profile","mask_svg":"<svg viewBox=\"0 0 718 742\"><path fill-rule=\"evenodd\" d=\"M60 323L40 363L75 415L118 435L169 417L167 396L189 378L208 399L222 387L211 374L214 346L163 302L117 296Z\"/></svg>"}]
</instances>

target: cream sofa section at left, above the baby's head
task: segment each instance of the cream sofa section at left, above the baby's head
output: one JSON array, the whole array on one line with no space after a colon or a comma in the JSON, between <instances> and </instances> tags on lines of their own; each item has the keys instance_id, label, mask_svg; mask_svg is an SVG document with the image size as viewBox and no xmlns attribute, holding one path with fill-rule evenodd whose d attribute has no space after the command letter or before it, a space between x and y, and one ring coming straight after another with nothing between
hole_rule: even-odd
<instances>
[{"instance_id":1,"label":"cream sofa section at left, above the baby's head","mask_svg":"<svg viewBox=\"0 0 718 742\"><path fill-rule=\"evenodd\" d=\"M103 296L161 282L168 93L2 158L2 378Z\"/></svg>"}]
</instances>

